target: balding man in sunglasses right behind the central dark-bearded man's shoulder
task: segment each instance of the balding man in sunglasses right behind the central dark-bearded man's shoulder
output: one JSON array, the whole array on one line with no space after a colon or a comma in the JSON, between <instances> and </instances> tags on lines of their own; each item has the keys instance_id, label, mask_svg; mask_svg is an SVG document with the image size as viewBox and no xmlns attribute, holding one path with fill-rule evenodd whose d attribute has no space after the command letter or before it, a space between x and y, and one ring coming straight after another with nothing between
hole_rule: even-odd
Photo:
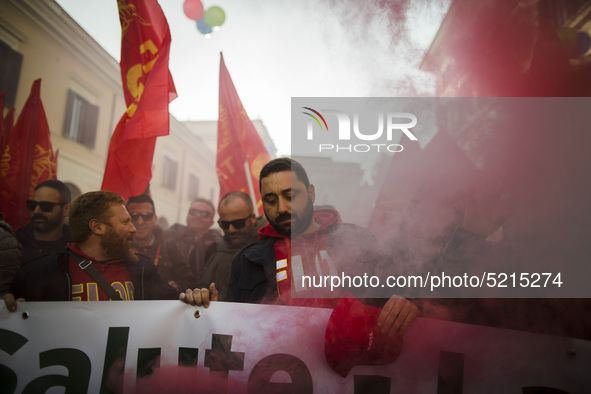
<instances>
[{"instance_id":1,"label":"balding man in sunglasses right behind the central dark-bearded man's shoulder","mask_svg":"<svg viewBox=\"0 0 591 394\"><path fill-rule=\"evenodd\" d=\"M221 299L227 296L232 260L245 246L259 241L256 218L250 196L241 191L226 194L218 206L219 226L224 238L208 250L199 287L215 283Z\"/></svg>"}]
</instances>

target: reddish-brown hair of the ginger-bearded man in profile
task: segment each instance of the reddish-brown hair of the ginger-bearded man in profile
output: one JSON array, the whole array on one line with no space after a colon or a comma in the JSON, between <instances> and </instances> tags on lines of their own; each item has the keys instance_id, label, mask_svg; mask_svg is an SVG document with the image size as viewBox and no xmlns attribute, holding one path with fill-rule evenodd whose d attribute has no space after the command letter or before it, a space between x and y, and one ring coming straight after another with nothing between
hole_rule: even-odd
<instances>
[{"instance_id":1,"label":"reddish-brown hair of the ginger-bearded man in profile","mask_svg":"<svg viewBox=\"0 0 591 394\"><path fill-rule=\"evenodd\" d=\"M104 190L84 193L75 199L70 209L70 232L74 242L81 243L90 237L92 231L88 223L92 219L103 223L109 220L114 204L125 205L125 200L117 193Z\"/></svg>"}]
</instances>

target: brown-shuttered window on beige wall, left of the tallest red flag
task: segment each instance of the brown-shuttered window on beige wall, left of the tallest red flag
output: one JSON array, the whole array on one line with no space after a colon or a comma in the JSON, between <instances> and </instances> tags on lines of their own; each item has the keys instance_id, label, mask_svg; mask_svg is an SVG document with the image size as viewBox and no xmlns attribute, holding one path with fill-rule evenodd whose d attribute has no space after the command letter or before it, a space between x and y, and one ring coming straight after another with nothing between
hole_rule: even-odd
<instances>
[{"instance_id":1,"label":"brown-shuttered window on beige wall, left of the tallest red flag","mask_svg":"<svg viewBox=\"0 0 591 394\"><path fill-rule=\"evenodd\" d=\"M92 149L96 139L97 123L98 107L90 104L74 91L68 91L64 137L78 141Z\"/></svg>"}]
</instances>

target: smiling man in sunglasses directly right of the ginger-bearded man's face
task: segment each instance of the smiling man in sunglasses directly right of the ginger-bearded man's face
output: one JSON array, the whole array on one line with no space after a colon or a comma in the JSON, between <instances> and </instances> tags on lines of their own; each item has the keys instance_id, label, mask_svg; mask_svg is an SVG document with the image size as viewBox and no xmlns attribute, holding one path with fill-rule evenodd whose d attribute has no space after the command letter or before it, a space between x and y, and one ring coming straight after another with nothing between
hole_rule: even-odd
<instances>
[{"instance_id":1,"label":"smiling man in sunglasses directly right of the ginger-bearded man's face","mask_svg":"<svg viewBox=\"0 0 591 394\"><path fill-rule=\"evenodd\" d=\"M158 274L177 290L195 287L197 280L193 276L186 259L180 253L173 253L171 259L169 248L176 243L165 241L164 231L158 225L158 216L154 201L148 195L130 197L127 200L127 211L131 222L136 228L132 245L136 253L149 257L158 269Z\"/></svg>"}]
</instances>

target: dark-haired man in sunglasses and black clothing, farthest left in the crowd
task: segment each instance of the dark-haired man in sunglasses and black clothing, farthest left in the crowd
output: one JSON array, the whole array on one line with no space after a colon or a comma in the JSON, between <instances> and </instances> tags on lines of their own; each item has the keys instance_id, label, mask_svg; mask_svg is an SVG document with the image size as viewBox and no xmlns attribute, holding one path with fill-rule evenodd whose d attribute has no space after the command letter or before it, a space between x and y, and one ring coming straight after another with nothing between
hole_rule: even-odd
<instances>
[{"instance_id":1,"label":"dark-haired man in sunglasses and black clothing, farthest left in the crowd","mask_svg":"<svg viewBox=\"0 0 591 394\"><path fill-rule=\"evenodd\" d=\"M27 263L40 256L64 252L72 242L65 220L70 212L70 190L55 179L41 182L27 200L31 211L31 223L16 232L23 246L22 262Z\"/></svg>"}]
</instances>

